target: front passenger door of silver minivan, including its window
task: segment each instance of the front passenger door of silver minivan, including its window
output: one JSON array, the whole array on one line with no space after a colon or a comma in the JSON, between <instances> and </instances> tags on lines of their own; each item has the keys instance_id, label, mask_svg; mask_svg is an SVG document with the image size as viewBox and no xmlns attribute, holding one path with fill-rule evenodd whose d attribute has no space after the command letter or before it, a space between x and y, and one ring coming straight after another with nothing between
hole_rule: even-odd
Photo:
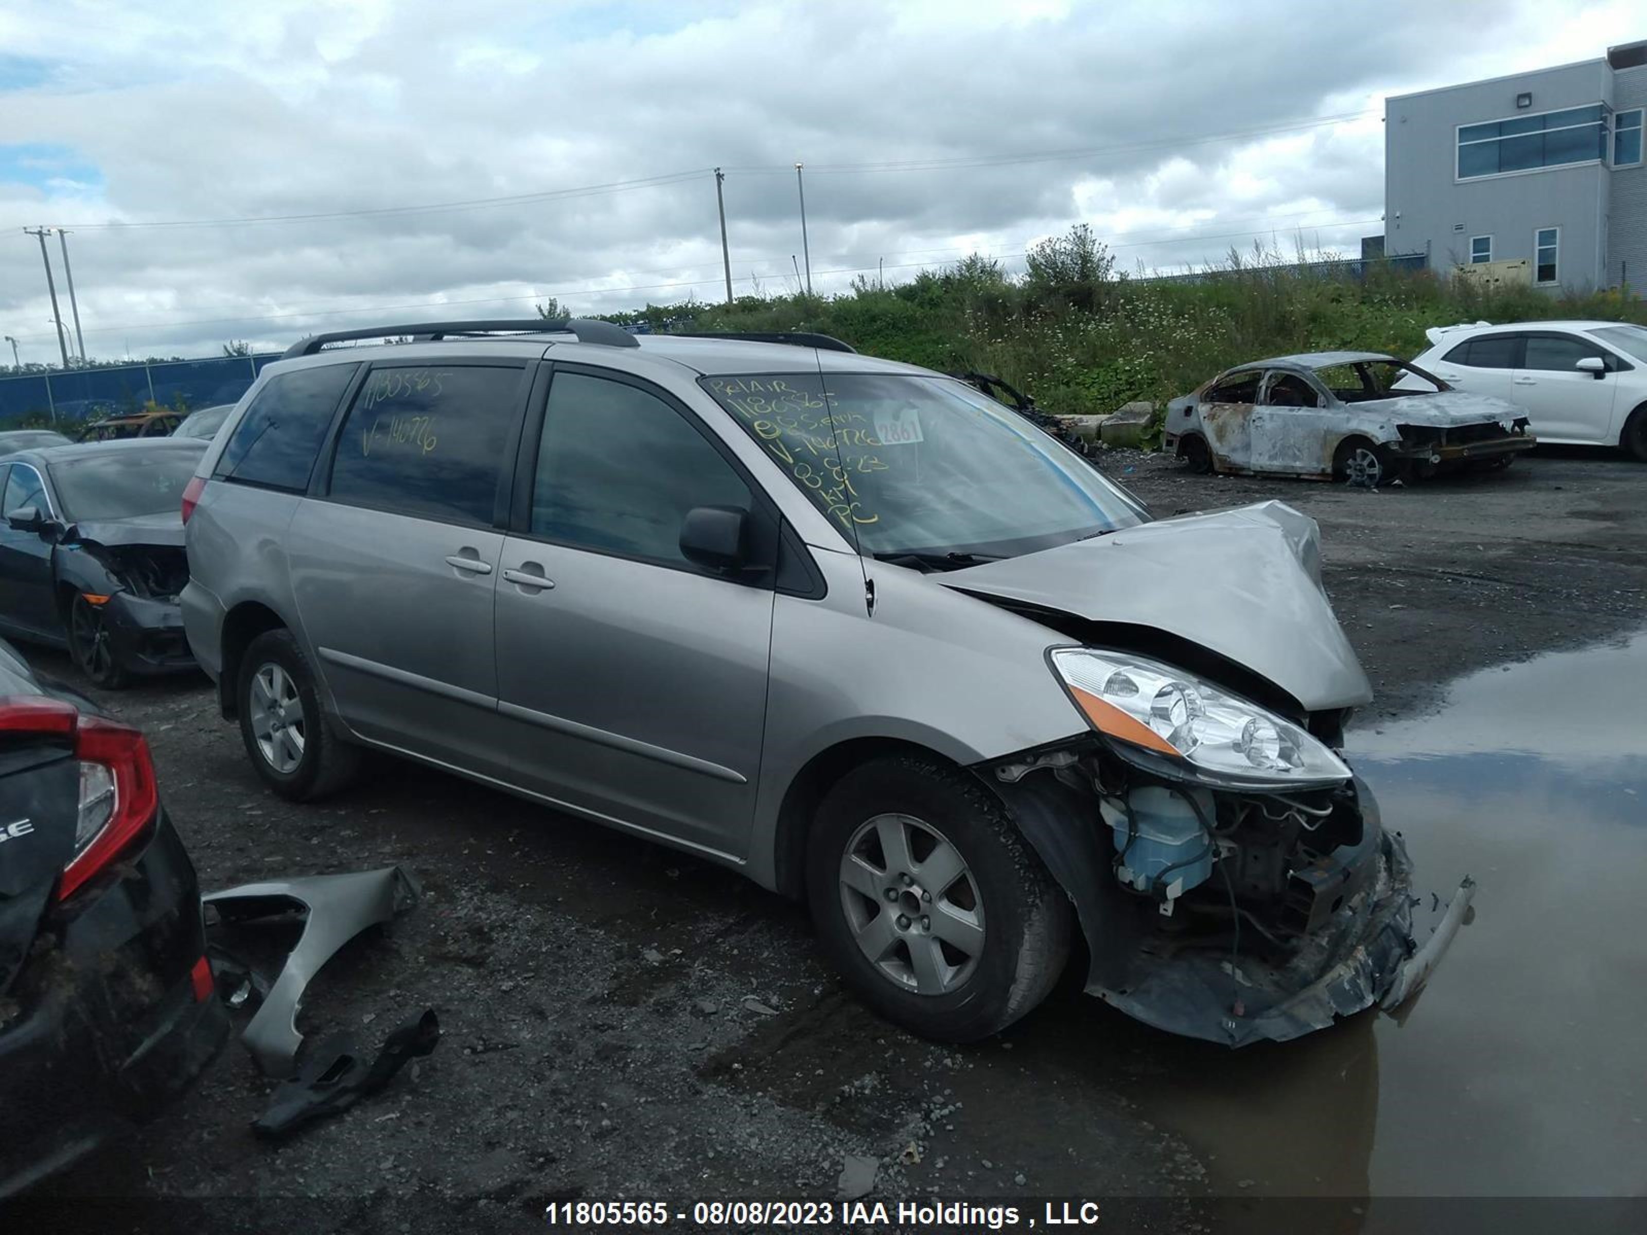
<instances>
[{"instance_id":1,"label":"front passenger door of silver minivan, including its window","mask_svg":"<svg viewBox=\"0 0 1647 1235\"><path fill-rule=\"evenodd\" d=\"M772 571L708 573L682 557L680 525L698 506L768 517L693 412L611 374L557 369L535 458L497 581L514 781L741 858L766 726Z\"/></svg>"}]
</instances>

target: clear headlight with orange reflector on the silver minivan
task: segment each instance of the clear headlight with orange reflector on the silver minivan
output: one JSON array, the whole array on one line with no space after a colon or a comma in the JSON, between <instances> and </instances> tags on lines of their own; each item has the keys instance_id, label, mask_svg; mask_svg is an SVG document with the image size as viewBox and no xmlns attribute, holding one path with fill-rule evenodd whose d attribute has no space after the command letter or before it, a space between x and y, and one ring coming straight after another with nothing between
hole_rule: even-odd
<instances>
[{"instance_id":1,"label":"clear headlight with orange reflector on the silver minivan","mask_svg":"<svg viewBox=\"0 0 1647 1235\"><path fill-rule=\"evenodd\" d=\"M1301 726L1159 660L1095 647L1051 655L1071 700L1115 751L1227 789L1306 789L1351 771Z\"/></svg>"}]
</instances>

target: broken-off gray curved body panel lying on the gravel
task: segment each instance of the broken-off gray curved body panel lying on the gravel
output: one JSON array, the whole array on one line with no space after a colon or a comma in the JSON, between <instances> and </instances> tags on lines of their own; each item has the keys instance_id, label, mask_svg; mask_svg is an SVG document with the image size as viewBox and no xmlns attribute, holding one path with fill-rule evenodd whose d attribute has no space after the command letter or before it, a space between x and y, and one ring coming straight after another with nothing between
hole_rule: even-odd
<instances>
[{"instance_id":1,"label":"broken-off gray curved body panel lying on the gravel","mask_svg":"<svg viewBox=\"0 0 1647 1235\"><path fill-rule=\"evenodd\" d=\"M249 883L211 892L209 904L221 922L249 922L262 917L303 914L303 934L287 957L240 1041L257 1065L270 1077L288 1077L296 1064L303 1034L298 1009L303 991L338 948L369 925L389 922L417 906L422 889L404 866L354 874L315 874L305 879Z\"/></svg>"}]
</instances>

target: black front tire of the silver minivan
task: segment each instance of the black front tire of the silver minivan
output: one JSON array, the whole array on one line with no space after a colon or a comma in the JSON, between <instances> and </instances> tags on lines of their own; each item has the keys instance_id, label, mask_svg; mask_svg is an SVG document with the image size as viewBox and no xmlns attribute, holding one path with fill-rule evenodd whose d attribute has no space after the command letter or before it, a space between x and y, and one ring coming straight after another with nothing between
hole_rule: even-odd
<instances>
[{"instance_id":1,"label":"black front tire of the silver minivan","mask_svg":"<svg viewBox=\"0 0 1647 1235\"><path fill-rule=\"evenodd\" d=\"M937 889L937 901L970 901L982 922L982 947L954 968L954 985L919 993L883 972L883 965L907 965L916 972L909 942L937 948L927 929L903 919L896 906L881 904L868 892L853 892L842 883L843 858L853 838L871 820L899 815L942 833L940 840L959 853L963 874ZM904 835L921 835L919 830ZM878 850L878 843L871 840ZM911 845L916 853L916 845ZM935 850L927 850L931 858ZM884 861L884 860L883 860ZM922 861L914 866L919 874ZM894 863L884 861L884 878L919 904L921 884L904 889ZM931 868L929 868L931 869ZM883 878L873 873L871 878ZM906 883L906 881L904 881ZM927 896L931 901L931 892ZM1057 981L1069 957L1074 914L1069 897L1041 864L1029 841L1018 832L1005 805L983 784L959 769L912 756L876 759L848 772L819 805L807 838L807 901L824 952L858 996L888 1021L922 1037L972 1042L1000 1032L1033 1009ZM870 907L875 914L870 914ZM853 907L855 906L855 907ZM927 912L922 909L921 912ZM937 917L939 906L931 912ZM909 922L884 962L871 962L858 944L853 916L888 916ZM939 932L942 934L942 930ZM898 960L898 948L904 960ZM934 953L944 957L949 953ZM912 981L911 976L906 981Z\"/></svg>"}]
</instances>

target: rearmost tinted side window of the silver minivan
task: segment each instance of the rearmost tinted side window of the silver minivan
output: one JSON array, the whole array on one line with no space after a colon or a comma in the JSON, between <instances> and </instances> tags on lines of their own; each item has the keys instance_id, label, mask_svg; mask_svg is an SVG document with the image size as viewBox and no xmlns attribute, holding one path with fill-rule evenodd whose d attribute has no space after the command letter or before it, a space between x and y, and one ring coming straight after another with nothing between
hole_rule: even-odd
<instances>
[{"instance_id":1,"label":"rearmost tinted side window of the silver minivan","mask_svg":"<svg viewBox=\"0 0 1647 1235\"><path fill-rule=\"evenodd\" d=\"M331 413L359 367L324 364L270 377L234 426L214 474L270 489L308 489Z\"/></svg>"}]
</instances>

